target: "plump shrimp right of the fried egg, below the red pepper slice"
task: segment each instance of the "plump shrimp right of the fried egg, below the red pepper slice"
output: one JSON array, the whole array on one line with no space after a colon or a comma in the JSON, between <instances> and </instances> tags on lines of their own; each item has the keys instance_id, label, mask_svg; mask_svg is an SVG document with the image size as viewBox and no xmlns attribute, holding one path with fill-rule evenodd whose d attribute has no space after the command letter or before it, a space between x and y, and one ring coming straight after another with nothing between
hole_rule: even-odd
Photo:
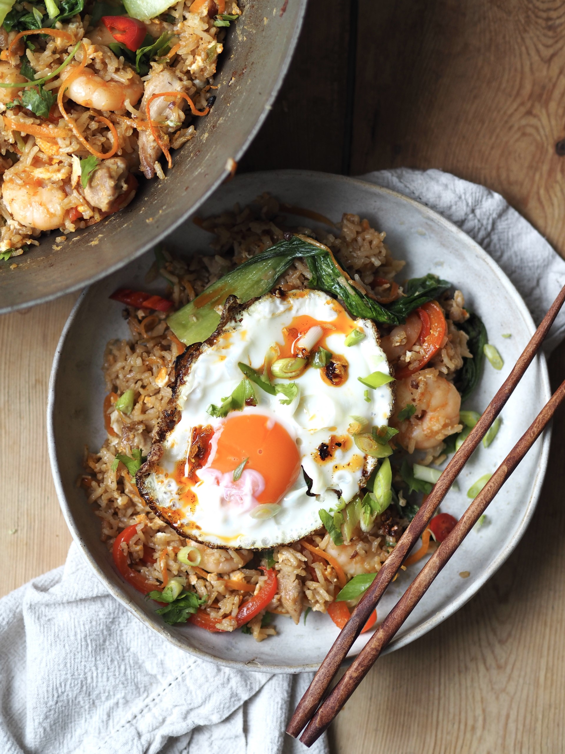
<instances>
[{"instance_id":1,"label":"plump shrimp right of the fried egg, below the red pepper slice","mask_svg":"<svg viewBox=\"0 0 565 754\"><path fill-rule=\"evenodd\" d=\"M399 421L399 412L408 405L416 411ZM455 385L437 369L422 369L396 382L395 409L389 423L398 429L396 437L408 452L428 450L463 429L460 408L461 396Z\"/></svg>"}]
</instances>

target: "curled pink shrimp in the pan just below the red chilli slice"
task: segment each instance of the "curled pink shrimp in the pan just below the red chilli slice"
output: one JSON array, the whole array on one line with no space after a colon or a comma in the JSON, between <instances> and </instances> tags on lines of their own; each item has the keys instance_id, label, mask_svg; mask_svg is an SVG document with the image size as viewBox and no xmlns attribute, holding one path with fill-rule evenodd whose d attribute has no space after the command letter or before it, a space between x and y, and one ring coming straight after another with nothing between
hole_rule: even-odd
<instances>
[{"instance_id":1,"label":"curled pink shrimp in the pan just below the red chilli slice","mask_svg":"<svg viewBox=\"0 0 565 754\"><path fill-rule=\"evenodd\" d=\"M69 66L61 73L62 81L66 81L75 72L77 66ZM123 81L104 81L104 79L90 68L85 68L76 78L73 78L66 90L70 100L95 110L123 110L126 100L135 105L143 93L143 81L136 72L132 71L127 83Z\"/></svg>"}]
</instances>

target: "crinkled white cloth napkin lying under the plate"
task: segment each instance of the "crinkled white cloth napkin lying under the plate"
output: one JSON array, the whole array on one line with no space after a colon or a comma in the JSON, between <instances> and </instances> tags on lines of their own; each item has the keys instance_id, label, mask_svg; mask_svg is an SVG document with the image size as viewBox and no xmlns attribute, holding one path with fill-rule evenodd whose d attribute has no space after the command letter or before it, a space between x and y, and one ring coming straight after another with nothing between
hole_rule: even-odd
<instances>
[{"instance_id":1,"label":"crinkled white cloth napkin lying under the plate","mask_svg":"<svg viewBox=\"0 0 565 754\"><path fill-rule=\"evenodd\" d=\"M439 170L365 179L463 228L536 320L565 284L565 262L484 187ZM562 314L551 344L563 335ZM74 544L63 568L0 600L2 754L298 754L307 749L284 730L310 679L230 670L173 647L110 596ZM327 752L325 737L310 751Z\"/></svg>"}]
</instances>

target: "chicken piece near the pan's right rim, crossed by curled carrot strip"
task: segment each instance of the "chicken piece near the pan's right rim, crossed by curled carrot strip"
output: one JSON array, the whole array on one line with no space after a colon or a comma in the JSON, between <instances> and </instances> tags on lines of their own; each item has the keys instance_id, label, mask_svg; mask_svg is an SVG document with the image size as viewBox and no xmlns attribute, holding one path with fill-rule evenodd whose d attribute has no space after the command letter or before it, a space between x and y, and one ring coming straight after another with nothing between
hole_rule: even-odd
<instances>
[{"instance_id":1,"label":"chicken piece near the pan's right rim, crossed by curled carrot strip","mask_svg":"<svg viewBox=\"0 0 565 754\"><path fill-rule=\"evenodd\" d=\"M176 73L166 68L163 71L152 76L149 81L145 83L145 93L141 105L139 106L140 112L145 117L145 107L150 97L159 92L176 92L184 91L185 85L176 75ZM149 114L151 115L151 121L156 121L159 124L161 130L165 133L172 133L176 131L182 125L185 120L185 113L183 109L186 106L186 100L179 100L176 102L167 102L165 97L159 97L151 103L149 106ZM139 132L139 164L145 175L145 178L153 178L155 175L155 162L159 159L161 154L160 146L154 139L150 130L143 130Z\"/></svg>"}]
</instances>

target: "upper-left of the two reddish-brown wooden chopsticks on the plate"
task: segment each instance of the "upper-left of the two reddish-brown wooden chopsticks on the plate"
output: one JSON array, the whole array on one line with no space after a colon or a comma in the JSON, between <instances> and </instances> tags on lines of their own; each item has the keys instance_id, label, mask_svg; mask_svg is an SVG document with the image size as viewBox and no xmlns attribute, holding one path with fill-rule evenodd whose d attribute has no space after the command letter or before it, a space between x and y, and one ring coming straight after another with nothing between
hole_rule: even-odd
<instances>
[{"instance_id":1,"label":"upper-left of the two reddish-brown wooden chopsticks on the plate","mask_svg":"<svg viewBox=\"0 0 565 754\"><path fill-rule=\"evenodd\" d=\"M395 577L395 574L398 572L400 566L402 566L405 557L408 555L412 547L414 547L414 544L417 539L420 538L422 532L426 529L426 526L428 526L429 520L432 518L435 510L437 510L445 495L447 495L451 485L463 469L463 466L469 460L472 452L478 446L478 443L481 442L484 435L487 434L490 425L493 423L496 416L499 415L499 412L502 410L503 406L505 406L506 401L512 395L512 392L515 390L518 382L520 382L527 367L530 366L539 346L542 345L542 342L548 334L548 331L553 324L555 317L557 317L557 313L564 301L565 287L560 291L548 313L545 314L538 329L536 329L536 332L533 334L532 339L526 348L524 348L524 352L516 362L514 369L512 369L512 372L510 372L509 376L505 379L502 387L499 388L499 391L493 397L493 400L490 401L487 409L485 409L475 427L469 432L463 445L455 453L453 458L451 458L447 467L445 467L443 474L441 474L441 477L439 477L438 482L432 489L432 492L430 492L426 501L423 502L420 510L418 510L416 516L414 516L414 519L408 526L408 529L406 529L400 538L399 543L385 560L380 571L377 573L377 576L374 578L373 583L353 610L350 620L347 621L347 624L345 624L341 633L337 636L330 651L320 665L316 676L314 676L312 683L298 703L295 713L289 723L289 727L286 729L286 732L291 736L297 737L316 712L331 680L335 673L337 673L337 670L339 670L339 667L347 656L347 652L350 651L353 642L355 642L359 633L361 633L362 627L365 626L371 612L383 596L386 587L388 587L392 579Z\"/></svg>"}]
</instances>

